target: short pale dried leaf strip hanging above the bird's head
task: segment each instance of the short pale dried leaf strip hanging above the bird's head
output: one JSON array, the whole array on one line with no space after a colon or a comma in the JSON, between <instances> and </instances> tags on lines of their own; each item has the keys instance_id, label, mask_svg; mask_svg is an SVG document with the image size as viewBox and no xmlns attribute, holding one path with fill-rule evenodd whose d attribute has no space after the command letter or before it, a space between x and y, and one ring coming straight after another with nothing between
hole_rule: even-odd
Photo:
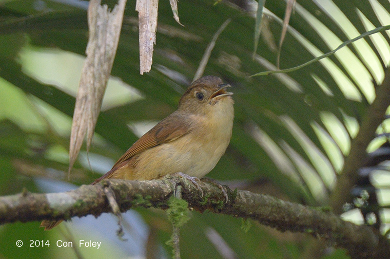
<instances>
[{"instance_id":1,"label":"short pale dried leaf strip hanging above the bird's head","mask_svg":"<svg viewBox=\"0 0 390 259\"><path fill-rule=\"evenodd\" d=\"M158 0L137 0L139 28L139 73L149 72L156 44Z\"/></svg>"}]
</instances>

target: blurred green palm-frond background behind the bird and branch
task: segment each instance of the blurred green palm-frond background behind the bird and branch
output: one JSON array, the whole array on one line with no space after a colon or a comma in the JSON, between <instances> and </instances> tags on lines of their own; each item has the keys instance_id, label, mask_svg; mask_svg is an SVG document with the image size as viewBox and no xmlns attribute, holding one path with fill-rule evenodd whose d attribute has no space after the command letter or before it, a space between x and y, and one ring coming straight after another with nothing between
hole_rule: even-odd
<instances>
[{"instance_id":1,"label":"blurred green palm-frond background behind the bird and branch","mask_svg":"<svg viewBox=\"0 0 390 259\"><path fill-rule=\"evenodd\" d=\"M111 8L116 1L103 1ZM205 75L233 85L233 137L208 177L256 193L310 206L326 206L362 115L390 60L389 32L356 41L289 74L254 76L276 69L286 1L266 1L254 54L257 2L181 0L176 23L160 0L153 65L139 74L138 14L128 0L112 75L93 147L82 148L68 178L68 150L75 96L88 40L84 0L0 0L0 195L61 192L89 184L159 120L175 111L215 32ZM280 68L327 53L342 42L390 24L388 0L298 0L280 52ZM389 119L371 140L367 166L343 217L390 228ZM117 219L104 214L75 218L51 231L40 222L0 226L0 258L171 258L165 244L172 227L164 211L137 208ZM181 229L182 258L300 259L314 239L281 233L257 222L212 213L190 213ZM17 247L16 241L23 246ZM39 247L30 247L39 240ZM43 240L43 242L41 242ZM101 242L99 249L79 241ZM46 245L49 241L49 246ZM59 243L57 243L59 241ZM58 247L73 241L73 247ZM42 245L43 244L43 245ZM37 243L34 243L37 246ZM42 247L43 246L43 247ZM318 255L316 256L319 257ZM323 258L345 259L327 249Z\"/></svg>"}]
</instances>

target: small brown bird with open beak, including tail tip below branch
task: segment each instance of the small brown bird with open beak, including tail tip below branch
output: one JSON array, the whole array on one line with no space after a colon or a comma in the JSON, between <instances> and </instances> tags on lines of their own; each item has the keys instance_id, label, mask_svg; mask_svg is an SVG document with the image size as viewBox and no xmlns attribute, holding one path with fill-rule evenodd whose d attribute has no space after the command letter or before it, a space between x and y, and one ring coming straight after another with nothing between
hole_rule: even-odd
<instances>
[{"instance_id":1,"label":"small brown bird with open beak, including tail tip below branch","mask_svg":"<svg viewBox=\"0 0 390 259\"><path fill-rule=\"evenodd\" d=\"M234 101L219 77L204 76L183 94L179 107L146 132L119 158L106 178L152 180L184 173L202 178L225 153L232 137ZM62 221L42 221L52 229Z\"/></svg>"}]
</instances>

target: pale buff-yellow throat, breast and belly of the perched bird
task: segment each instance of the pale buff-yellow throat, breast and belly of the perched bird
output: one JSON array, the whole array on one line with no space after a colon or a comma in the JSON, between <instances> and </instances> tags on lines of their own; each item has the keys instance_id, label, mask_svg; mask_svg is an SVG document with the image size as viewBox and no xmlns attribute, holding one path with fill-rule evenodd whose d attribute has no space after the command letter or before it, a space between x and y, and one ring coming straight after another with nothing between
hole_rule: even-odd
<instances>
[{"instance_id":1,"label":"pale buff-yellow throat, breast and belly of the perched bird","mask_svg":"<svg viewBox=\"0 0 390 259\"><path fill-rule=\"evenodd\" d=\"M188 133L140 153L137 166L125 179L150 180L176 172L204 177L225 153L232 136L233 100L215 108L207 115L190 115Z\"/></svg>"}]
</instances>

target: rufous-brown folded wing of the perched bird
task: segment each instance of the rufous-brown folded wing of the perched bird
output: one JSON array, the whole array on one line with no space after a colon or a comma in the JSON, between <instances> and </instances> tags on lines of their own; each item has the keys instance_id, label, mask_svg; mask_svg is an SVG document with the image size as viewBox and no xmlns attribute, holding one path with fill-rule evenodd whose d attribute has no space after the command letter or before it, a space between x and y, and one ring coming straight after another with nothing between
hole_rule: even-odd
<instances>
[{"instance_id":1,"label":"rufous-brown folded wing of the perched bird","mask_svg":"<svg viewBox=\"0 0 390 259\"><path fill-rule=\"evenodd\" d=\"M158 145L168 143L176 140L177 138L190 132L191 123L188 122L178 112L174 112L171 115L164 118L162 121L157 123L155 127L146 132L140 137L115 163L113 168L108 171L105 175L95 180L93 184L100 182L115 172L117 167L124 161L132 158L134 155L145 151L148 148L153 148Z\"/></svg>"}]
</instances>

